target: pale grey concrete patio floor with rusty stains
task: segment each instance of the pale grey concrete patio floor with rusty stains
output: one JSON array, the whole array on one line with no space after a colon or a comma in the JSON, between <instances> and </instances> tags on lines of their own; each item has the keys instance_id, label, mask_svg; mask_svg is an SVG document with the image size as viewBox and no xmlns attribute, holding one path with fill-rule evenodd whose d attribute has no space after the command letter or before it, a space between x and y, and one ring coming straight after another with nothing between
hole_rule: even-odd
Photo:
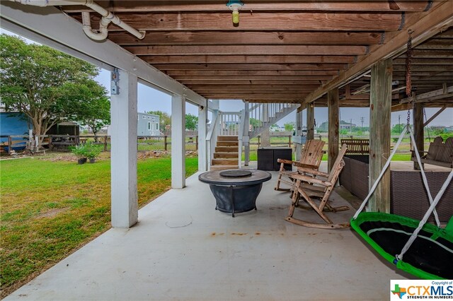
<instances>
[{"instance_id":1,"label":"pale grey concrete patio floor with rusty stains","mask_svg":"<svg viewBox=\"0 0 453 301\"><path fill-rule=\"evenodd\" d=\"M193 175L142 208L133 228L108 230L5 300L387 300L391 279L413 278L350 229L286 222L289 194L273 190L272 174L258 211L236 218L215 211ZM315 214L294 216L320 221Z\"/></svg>"}]
</instances>

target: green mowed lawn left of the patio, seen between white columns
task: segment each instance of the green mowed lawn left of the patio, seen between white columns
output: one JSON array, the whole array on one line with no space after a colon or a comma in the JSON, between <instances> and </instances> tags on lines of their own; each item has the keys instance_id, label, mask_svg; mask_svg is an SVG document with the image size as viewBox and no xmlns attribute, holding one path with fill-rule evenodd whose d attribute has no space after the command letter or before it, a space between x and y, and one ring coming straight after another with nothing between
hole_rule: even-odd
<instances>
[{"instance_id":1,"label":"green mowed lawn left of the patio, seen between white columns","mask_svg":"<svg viewBox=\"0 0 453 301\"><path fill-rule=\"evenodd\" d=\"M197 158L186 158L186 175ZM171 186L171 158L138 161L139 206ZM110 228L110 160L0 161L1 297Z\"/></svg>"}]
</instances>

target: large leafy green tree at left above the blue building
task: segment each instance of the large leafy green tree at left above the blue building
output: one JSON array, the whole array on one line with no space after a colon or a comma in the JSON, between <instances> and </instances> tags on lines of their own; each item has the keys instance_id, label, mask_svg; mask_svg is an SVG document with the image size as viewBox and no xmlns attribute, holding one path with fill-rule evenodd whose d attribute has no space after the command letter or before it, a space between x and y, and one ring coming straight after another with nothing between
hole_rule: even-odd
<instances>
[{"instance_id":1,"label":"large leafy green tree at left above the blue building","mask_svg":"<svg viewBox=\"0 0 453 301\"><path fill-rule=\"evenodd\" d=\"M7 111L30 117L35 135L59 122L84 119L82 104L105 104L105 89L93 80L98 69L86 61L10 35L0 35L0 52L1 102Z\"/></svg>"}]
</instances>

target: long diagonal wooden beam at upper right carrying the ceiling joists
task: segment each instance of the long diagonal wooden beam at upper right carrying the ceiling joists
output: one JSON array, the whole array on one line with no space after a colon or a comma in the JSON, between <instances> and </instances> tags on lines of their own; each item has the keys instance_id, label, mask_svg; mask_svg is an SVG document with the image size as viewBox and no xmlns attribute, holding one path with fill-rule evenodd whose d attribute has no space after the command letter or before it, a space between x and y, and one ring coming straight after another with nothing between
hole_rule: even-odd
<instances>
[{"instance_id":1,"label":"long diagonal wooden beam at upper right carrying the ceiling joists","mask_svg":"<svg viewBox=\"0 0 453 301\"><path fill-rule=\"evenodd\" d=\"M328 90L338 87L341 83L350 81L360 73L365 72L372 65L376 64L380 59L393 57L406 49L408 33L406 30L411 28L413 33L413 45L418 45L430 37L439 33L442 28L445 28L453 23L453 1L445 1L435 6L428 13L414 13L411 18L411 23L406 24L404 30L391 36L386 40L386 44L372 47L372 52L360 57L357 64L350 69L343 71L332 81L318 88L316 91L306 97L304 103L316 100L321 95L327 93Z\"/></svg>"}]
</instances>

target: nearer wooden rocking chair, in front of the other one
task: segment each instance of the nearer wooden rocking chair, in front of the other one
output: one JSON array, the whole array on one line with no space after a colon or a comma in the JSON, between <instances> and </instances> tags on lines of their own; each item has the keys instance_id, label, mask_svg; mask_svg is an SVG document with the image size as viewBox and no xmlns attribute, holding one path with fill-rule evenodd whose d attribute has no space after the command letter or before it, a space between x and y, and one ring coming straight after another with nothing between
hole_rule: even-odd
<instances>
[{"instance_id":1,"label":"nearer wooden rocking chair, in front of the other one","mask_svg":"<svg viewBox=\"0 0 453 301\"><path fill-rule=\"evenodd\" d=\"M348 146L343 144L340 153L338 153L338 157L333 164L330 174L327 174L326 172L319 172L318 170L304 169L302 167L301 171L305 172L305 175L301 174L292 176L296 180L296 183L294 184L294 194L292 194L292 202L289 207L289 213L285 220L290 223L311 228L332 229L349 227L349 223L334 224L332 220L326 216L326 213L323 212L325 210L331 212L349 210L348 206L333 207L328 203L328 198L335 187L338 176L340 175L341 170L343 170L343 166L345 166L343 156L345 155L347 148ZM313 208L314 211L316 211L316 213L318 213L319 216L326 221L326 224L310 223L292 217L294 214L294 208L299 206L299 199L301 196L304 201L309 204L309 208ZM319 203L316 203L316 201L312 199L313 197L319 199Z\"/></svg>"}]
</instances>

